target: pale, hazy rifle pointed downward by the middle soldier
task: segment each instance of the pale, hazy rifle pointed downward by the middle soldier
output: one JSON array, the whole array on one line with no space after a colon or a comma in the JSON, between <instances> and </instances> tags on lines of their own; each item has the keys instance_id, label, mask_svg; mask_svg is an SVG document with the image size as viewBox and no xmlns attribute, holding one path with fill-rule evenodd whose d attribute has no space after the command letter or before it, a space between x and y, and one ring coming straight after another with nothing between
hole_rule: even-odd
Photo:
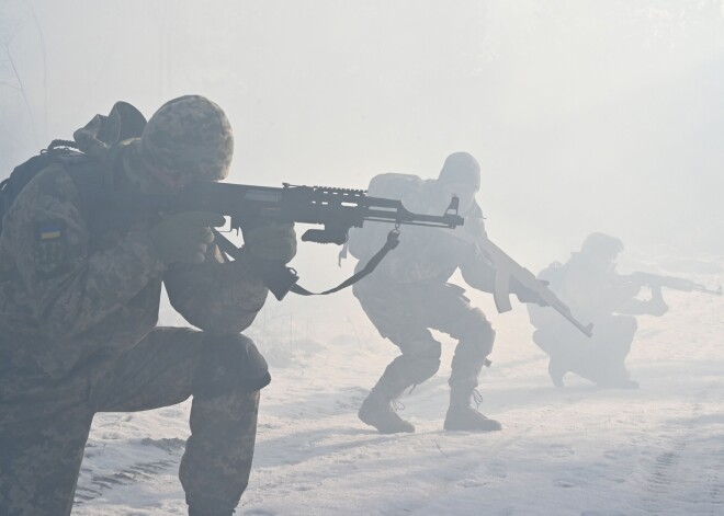
<instances>
[{"instance_id":1,"label":"pale, hazy rifle pointed downward by the middle soldier","mask_svg":"<svg viewBox=\"0 0 724 516\"><path fill-rule=\"evenodd\" d=\"M570 311L570 307L563 302L558 296L546 286L546 283L538 279L533 273L520 265L502 249L493 243L487 234L472 234L465 231L450 231L450 234L474 243L483 254L489 259L495 268L493 298L495 300L495 307L499 313L512 310L510 303L510 283L511 279L516 279L524 288L534 293L543 302L543 306L553 308L587 336L593 334L592 323L586 324L576 319Z\"/></svg>"}]
</instances>

